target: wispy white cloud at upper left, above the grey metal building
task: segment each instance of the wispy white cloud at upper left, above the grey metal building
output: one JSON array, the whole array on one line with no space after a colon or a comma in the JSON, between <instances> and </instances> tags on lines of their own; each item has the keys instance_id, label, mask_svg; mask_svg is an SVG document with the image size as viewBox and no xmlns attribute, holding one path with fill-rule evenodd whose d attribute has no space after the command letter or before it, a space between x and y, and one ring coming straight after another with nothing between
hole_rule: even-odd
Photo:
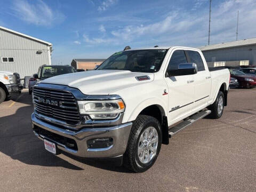
<instances>
[{"instance_id":1,"label":"wispy white cloud at upper left, above the grey metal building","mask_svg":"<svg viewBox=\"0 0 256 192\"><path fill-rule=\"evenodd\" d=\"M38 26L51 26L53 23L65 20L65 15L59 11L53 11L41 0L37 0L35 4L26 0L15 0L12 10L17 18Z\"/></svg>"}]
</instances>

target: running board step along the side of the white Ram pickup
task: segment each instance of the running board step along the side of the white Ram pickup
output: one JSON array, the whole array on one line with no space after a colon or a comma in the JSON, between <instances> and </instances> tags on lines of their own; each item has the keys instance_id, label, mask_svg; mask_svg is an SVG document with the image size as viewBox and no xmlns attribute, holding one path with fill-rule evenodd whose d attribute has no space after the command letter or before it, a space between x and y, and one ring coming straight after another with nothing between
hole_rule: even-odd
<instances>
[{"instance_id":1,"label":"running board step along the side of the white Ram pickup","mask_svg":"<svg viewBox=\"0 0 256 192\"><path fill-rule=\"evenodd\" d=\"M172 135L178 133L179 131L185 129L188 125L191 125L192 123L195 123L197 120L204 118L205 116L209 115L211 113L210 110L202 110L198 113L186 118L184 121L179 123L178 125L175 125L174 127L171 127L169 129L169 138L172 137Z\"/></svg>"}]
</instances>

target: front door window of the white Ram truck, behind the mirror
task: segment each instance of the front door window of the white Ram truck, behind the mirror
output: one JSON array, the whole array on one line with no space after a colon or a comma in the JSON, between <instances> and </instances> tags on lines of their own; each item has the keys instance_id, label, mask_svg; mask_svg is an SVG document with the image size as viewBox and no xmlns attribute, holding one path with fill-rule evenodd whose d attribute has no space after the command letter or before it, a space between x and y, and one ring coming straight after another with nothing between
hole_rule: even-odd
<instances>
[{"instance_id":1,"label":"front door window of the white Ram truck, behind the mirror","mask_svg":"<svg viewBox=\"0 0 256 192\"><path fill-rule=\"evenodd\" d=\"M180 63L187 63L187 58L183 50L176 50L172 53L167 70L178 69Z\"/></svg>"}]
</instances>

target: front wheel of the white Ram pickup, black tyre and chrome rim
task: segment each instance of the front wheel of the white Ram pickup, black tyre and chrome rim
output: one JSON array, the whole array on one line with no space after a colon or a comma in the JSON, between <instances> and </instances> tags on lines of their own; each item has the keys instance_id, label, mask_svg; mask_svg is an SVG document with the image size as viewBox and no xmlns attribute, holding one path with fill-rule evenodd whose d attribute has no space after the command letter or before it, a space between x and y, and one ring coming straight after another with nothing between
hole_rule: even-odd
<instances>
[{"instance_id":1,"label":"front wheel of the white Ram pickup, black tyre and chrome rim","mask_svg":"<svg viewBox=\"0 0 256 192\"><path fill-rule=\"evenodd\" d=\"M132 125L124 166L134 172L147 171L155 163L161 145L160 123L154 117L139 115Z\"/></svg>"}]
</instances>

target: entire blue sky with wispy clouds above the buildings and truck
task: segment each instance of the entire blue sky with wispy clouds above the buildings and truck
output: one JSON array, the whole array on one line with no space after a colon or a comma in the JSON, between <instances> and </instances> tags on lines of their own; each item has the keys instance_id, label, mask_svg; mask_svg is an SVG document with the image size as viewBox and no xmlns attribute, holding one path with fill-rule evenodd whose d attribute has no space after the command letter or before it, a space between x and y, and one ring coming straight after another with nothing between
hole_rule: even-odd
<instances>
[{"instance_id":1,"label":"entire blue sky with wispy clouds above the buildings and truck","mask_svg":"<svg viewBox=\"0 0 256 192\"><path fill-rule=\"evenodd\" d=\"M107 58L126 45L202 46L209 0L0 0L0 26L53 44L52 63ZM256 37L255 0L212 0L210 44Z\"/></svg>"}]
</instances>

